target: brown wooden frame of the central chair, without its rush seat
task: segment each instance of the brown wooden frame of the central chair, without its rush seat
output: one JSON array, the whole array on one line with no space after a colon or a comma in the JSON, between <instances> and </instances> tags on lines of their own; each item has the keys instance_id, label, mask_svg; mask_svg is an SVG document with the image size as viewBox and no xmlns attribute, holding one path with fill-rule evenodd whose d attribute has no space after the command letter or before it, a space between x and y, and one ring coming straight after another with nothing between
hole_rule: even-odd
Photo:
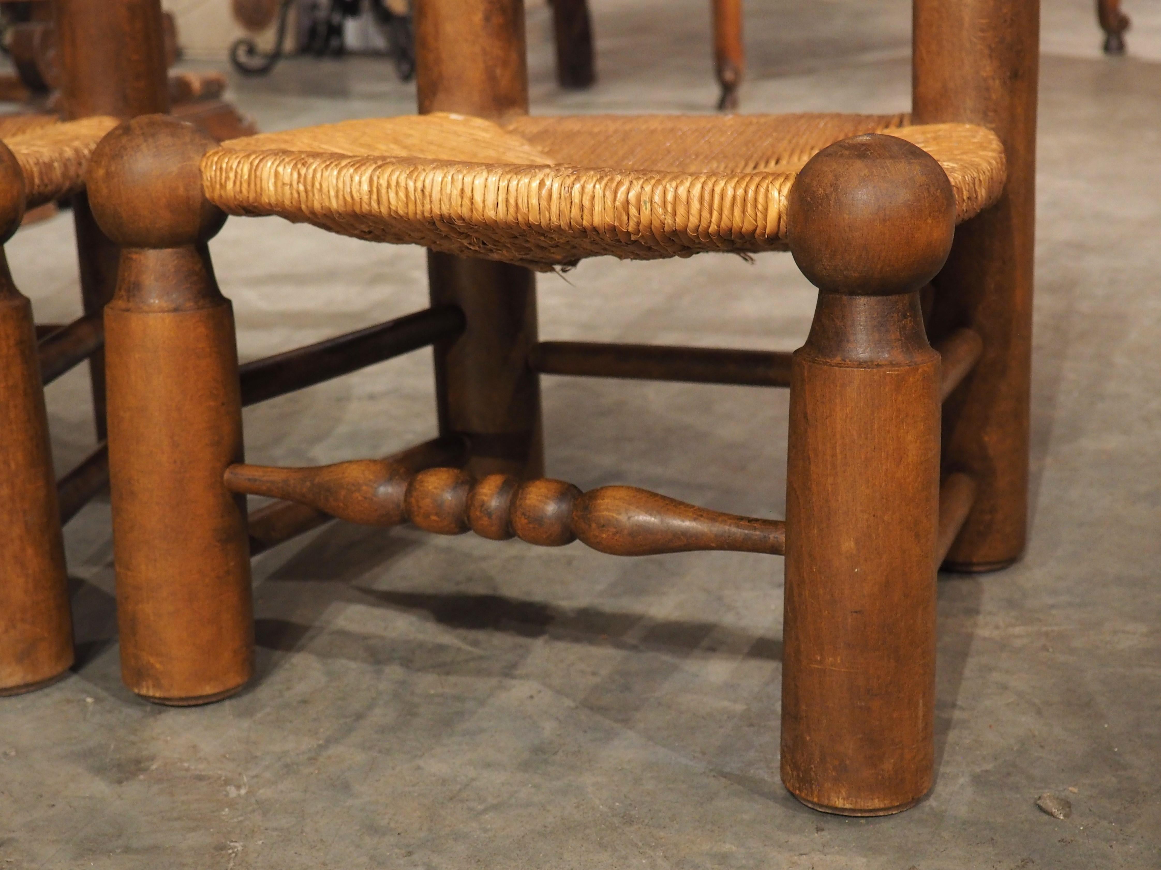
<instances>
[{"instance_id":1,"label":"brown wooden frame of the central chair, without its rush seat","mask_svg":"<svg viewBox=\"0 0 1161 870\"><path fill-rule=\"evenodd\" d=\"M520 0L425 0L416 27L421 113L527 111ZM828 812L914 805L933 777L936 570L1004 567L1025 543L1038 30L1037 0L916 0L915 121L993 129L1007 187L952 241L946 176L914 146L857 137L813 159L789 244L819 306L788 367L763 351L540 342L531 271L431 254L432 311L462 317L427 336L440 437L327 469L243 461L244 378L205 246L224 217L178 181L196 180L210 144L164 119L110 133L89 189L123 249L106 329L127 684L170 704L237 691L252 674L251 552L331 515L622 553L785 549L784 782ZM926 204L858 224L851 191ZM874 251L850 244L880 230ZM540 371L788 383L785 525L542 479ZM247 529L246 493L289 501ZM745 545L731 537L743 529Z\"/></svg>"}]
</instances>

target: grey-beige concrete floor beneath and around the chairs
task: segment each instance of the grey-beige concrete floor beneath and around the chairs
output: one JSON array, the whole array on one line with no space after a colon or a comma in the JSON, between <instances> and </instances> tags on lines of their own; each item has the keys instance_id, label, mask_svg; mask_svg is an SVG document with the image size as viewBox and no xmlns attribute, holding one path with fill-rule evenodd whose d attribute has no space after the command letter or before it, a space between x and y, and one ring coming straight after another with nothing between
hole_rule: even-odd
<instances>
[{"instance_id":1,"label":"grey-beige concrete floor beneath and around the chairs","mask_svg":"<svg viewBox=\"0 0 1161 870\"><path fill-rule=\"evenodd\" d=\"M1126 0L1127 1L1127 0ZM748 110L908 106L907 0L750 3ZM620 560L333 524L254 563L258 676L151 706L117 669L108 505L67 528L79 664L0 701L0 868L1161 867L1161 13L1098 53L1048 0L1023 561L939 586L938 778L851 820L778 778L781 560ZM601 81L534 111L704 110L705 0L593 0ZM1153 17L1148 17L1152 15ZM374 60L296 60L235 96L265 129L410 110ZM66 216L21 232L44 319L78 309ZM425 304L421 252L276 219L212 244L244 358ZM593 260L541 287L547 338L785 348L813 292L787 256ZM786 394L546 377L549 473L783 513ZM86 376L49 390L59 467ZM246 412L252 461L374 456L434 430L417 353ZM1040 812L1051 791L1070 818Z\"/></svg>"}]
</instances>

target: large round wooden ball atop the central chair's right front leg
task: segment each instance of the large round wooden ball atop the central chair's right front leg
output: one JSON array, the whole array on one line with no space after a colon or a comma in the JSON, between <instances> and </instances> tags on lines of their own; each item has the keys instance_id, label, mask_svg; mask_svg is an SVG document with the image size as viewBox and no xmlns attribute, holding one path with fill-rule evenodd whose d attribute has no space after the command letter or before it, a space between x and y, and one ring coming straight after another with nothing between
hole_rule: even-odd
<instances>
[{"instance_id":1,"label":"large round wooden ball atop the central chair's right front leg","mask_svg":"<svg viewBox=\"0 0 1161 870\"><path fill-rule=\"evenodd\" d=\"M791 188L788 222L794 262L815 287L904 293L933 278L947 259L956 195L925 151L868 133L810 159Z\"/></svg>"}]
</instances>

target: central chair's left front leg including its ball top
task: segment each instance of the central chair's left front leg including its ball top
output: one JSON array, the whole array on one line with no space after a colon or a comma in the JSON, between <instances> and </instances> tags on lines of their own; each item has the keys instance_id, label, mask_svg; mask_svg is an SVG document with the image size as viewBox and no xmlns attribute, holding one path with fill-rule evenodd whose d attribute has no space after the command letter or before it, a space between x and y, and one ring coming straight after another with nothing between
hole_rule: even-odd
<instances>
[{"instance_id":1,"label":"central chair's left front leg including its ball top","mask_svg":"<svg viewBox=\"0 0 1161 870\"><path fill-rule=\"evenodd\" d=\"M165 704L199 704L251 676L245 500L233 314L207 241L224 216L202 194L216 143L147 115L93 155L93 215L122 246L106 307L109 476L122 679Z\"/></svg>"}]
</instances>

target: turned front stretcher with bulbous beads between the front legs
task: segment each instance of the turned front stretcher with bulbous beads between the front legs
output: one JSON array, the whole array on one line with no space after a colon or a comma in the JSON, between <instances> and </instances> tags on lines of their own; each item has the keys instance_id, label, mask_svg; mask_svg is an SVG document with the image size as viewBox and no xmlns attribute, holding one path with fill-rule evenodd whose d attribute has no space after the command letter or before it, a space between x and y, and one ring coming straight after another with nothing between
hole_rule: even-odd
<instances>
[{"instance_id":1,"label":"turned front stretcher with bulbous beads between the front legs","mask_svg":"<svg viewBox=\"0 0 1161 870\"><path fill-rule=\"evenodd\" d=\"M462 469L421 471L389 459L358 459L308 469L231 465L225 486L235 493L300 502L348 522L410 522L437 535L469 530L493 541L518 537L538 546L579 539L612 556L693 550L781 553L785 524L723 514L633 486L582 493L563 480L519 480L489 474L475 480Z\"/></svg>"}]
</instances>

